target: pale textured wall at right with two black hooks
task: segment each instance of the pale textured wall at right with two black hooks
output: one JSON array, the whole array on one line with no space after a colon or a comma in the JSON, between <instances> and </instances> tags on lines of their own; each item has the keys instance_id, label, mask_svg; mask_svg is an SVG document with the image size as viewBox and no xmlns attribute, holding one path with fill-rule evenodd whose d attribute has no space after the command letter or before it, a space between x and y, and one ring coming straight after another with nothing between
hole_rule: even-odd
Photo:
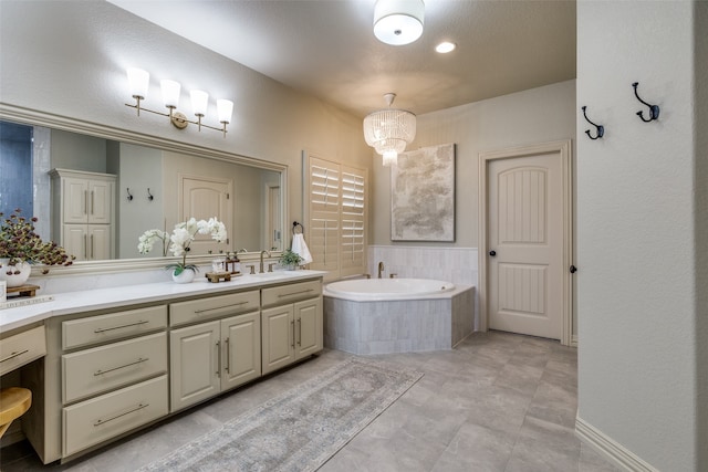
<instances>
[{"instance_id":1,"label":"pale textured wall at right with two black hooks","mask_svg":"<svg viewBox=\"0 0 708 472\"><path fill-rule=\"evenodd\" d=\"M605 126L577 129L577 417L634 470L708 470L706 31L706 2L577 4L577 102Z\"/></svg>"}]
</instances>

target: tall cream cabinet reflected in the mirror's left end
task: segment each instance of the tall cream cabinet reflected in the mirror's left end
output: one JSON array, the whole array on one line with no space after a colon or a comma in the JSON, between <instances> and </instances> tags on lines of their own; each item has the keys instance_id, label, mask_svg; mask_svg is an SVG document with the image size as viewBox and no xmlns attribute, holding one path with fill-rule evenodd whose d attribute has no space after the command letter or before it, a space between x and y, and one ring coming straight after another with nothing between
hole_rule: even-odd
<instances>
[{"instance_id":1,"label":"tall cream cabinet reflected in the mirror's left end","mask_svg":"<svg viewBox=\"0 0 708 472\"><path fill-rule=\"evenodd\" d=\"M79 261L113 259L116 177L66 169L50 175L58 243Z\"/></svg>"}]
</instances>

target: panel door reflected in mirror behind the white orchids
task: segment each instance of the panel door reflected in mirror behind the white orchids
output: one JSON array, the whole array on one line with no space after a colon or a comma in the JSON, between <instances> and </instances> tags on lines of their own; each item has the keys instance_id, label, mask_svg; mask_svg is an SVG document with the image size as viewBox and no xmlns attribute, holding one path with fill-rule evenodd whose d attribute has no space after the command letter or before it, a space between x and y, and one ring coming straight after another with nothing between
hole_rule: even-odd
<instances>
[{"instance_id":1,"label":"panel door reflected in mirror behind the white orchids","mask_svg":"<svg viewBox=\"0 0 708 472\"><path fill-rule=\"evenodd\" d=\"M210 177L180 176L181 211L180 220L189 218L208 220L215 217L226 225L227 234L232 234L231 214L233 214L231 201L231 180L218 180ZM228 242L219 244L208 234L197 234L190 244L192 254L206 254L208 251L218 253L226 251Z\"/></svg>"}]
</instances>

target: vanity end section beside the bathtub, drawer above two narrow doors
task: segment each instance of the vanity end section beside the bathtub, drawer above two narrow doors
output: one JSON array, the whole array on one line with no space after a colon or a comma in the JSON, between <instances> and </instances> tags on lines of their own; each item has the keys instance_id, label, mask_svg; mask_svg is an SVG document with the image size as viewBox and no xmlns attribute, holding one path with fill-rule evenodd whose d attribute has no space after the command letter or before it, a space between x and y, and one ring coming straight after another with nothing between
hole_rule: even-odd
<instances>
[{"instance_id":1,"label":"vanity end section beside the bathtub, drawer above two narrow doors","mask_svg":"<svg viewBox=\"0 0 708 472\"><path fill-rule=\"evenodd\" d=\"M267 287L261 296L263 374L322 350L321 281Z\"/></svg>"}]
</instances>

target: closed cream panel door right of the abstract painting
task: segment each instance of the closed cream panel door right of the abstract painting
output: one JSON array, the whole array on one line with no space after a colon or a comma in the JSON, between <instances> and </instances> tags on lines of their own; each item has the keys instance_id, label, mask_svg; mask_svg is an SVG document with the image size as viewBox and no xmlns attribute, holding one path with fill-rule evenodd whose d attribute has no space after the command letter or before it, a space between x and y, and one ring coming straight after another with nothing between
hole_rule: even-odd
<instances>
[{"instance_id":1,"label":"closed cream panel door right of the abstract painting","mask_svg":"<svg viewBox=\"0 0 708 472\"><path fill-rule=\"evenodd\" d=\"M489 326L561 339L563 177L558 153L488 165Z\"/></svg>"}]
</instances>

